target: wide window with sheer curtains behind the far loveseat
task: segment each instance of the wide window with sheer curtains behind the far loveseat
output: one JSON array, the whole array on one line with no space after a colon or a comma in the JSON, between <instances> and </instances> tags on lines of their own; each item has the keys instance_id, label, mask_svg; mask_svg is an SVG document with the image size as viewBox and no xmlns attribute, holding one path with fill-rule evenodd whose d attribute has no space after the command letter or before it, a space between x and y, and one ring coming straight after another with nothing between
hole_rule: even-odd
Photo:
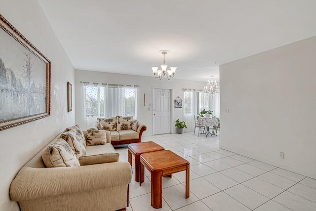
<instances>
[{"instance_id":1,"label":"wide window with sheer curtains behind the far loveseat","mask_svg":"<svg viewBox=\"0 0 316 211\"><path fill-rule=\"evenodd\" d=\"M85 119L115 116L136 118L137 88L84 84Z\"/></svg>"}]
</instances>

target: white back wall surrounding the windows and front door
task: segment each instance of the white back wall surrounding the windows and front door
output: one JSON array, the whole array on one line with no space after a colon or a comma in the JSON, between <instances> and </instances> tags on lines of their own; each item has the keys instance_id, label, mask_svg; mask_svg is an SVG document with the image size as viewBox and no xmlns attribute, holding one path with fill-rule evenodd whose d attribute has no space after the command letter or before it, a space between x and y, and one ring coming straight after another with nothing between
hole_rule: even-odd
<instances>
[{"instance_id":1,"label":"white back wall surrounding the windows and front door","mask_svg":"<svg viewBox=\"0 0 316 211\"><path fill-rule=\"evenodd\" d=\"M150 69L148 71L151 71ZM176 78L176 76L175 76ZM83 98L82 98L82 84L80 82L94 82L94 83L108 83L108 84L131 84L140 85L138 91L137 101L137 119L147 126L147 130L143 133L143 136L149 136L153 134L153 111L152 106L149 107L149 103L152 104L153 100L153 87L158 88L171 88L173 93L171 100L177 96L180 96L183 100L183 88L198 88L202 89L205 86L205 82L185 81L179 79L170 79L169 81L165 78L158 80L153 77L146 76L133 76L115 73L103 73L94 71L76 70L76 124L86 129L91 127L87 125L83 119ZM144 106L144 93L146 94L146 106ZM150 108L150 111L148 111ZM177 119L184 120L183 108L171 107L171 132L175 133L176 128L174 127ZM96 121L96 120L95 120Z\"/></svg>"}]
</instances>

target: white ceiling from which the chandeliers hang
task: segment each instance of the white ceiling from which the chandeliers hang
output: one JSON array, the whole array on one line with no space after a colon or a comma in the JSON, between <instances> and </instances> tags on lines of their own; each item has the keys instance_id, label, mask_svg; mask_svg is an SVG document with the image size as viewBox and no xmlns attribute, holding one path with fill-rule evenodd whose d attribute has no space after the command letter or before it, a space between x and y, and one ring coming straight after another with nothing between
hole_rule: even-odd
<instances>
[{"instance_id":1,"label":"white ceiling from which the chandeliers hang","mask_svg":"<svg viewBox=\"0 0 316 211\"><path fill-rule=\"evenodd\" d=\"M206 82L219 66L316 36L316 0L38 0L75 69ZM268 61L269 62L269 61Z\"/></svg>"}]
</instances>

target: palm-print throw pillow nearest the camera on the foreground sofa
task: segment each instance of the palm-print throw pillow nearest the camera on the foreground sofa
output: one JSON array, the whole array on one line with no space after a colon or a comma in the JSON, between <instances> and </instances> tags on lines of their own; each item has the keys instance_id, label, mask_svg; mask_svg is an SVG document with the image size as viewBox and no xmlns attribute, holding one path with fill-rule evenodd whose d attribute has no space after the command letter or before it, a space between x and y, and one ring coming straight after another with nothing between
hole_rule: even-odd
<instances>
[{"instance_id":1,"label":"palm-print throw pillow nearest the camera on the foreground sofa","mask_svg":"<svg viewBox=\"0 0 316 211\"><path fill-rule=\"evenodd\" d=\"M47 168L80 166L73 150L62 138L43 150L41 157Z\"/></svg>"}]
</instances>

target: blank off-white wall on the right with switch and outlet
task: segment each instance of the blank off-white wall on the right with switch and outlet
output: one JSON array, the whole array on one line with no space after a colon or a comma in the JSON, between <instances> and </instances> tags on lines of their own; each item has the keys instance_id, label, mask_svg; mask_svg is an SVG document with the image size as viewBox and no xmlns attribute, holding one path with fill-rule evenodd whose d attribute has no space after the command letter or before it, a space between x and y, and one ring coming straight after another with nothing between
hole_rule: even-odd
<instances>
[{"instance_id":1,"label":"blank off-white wall on the right with switch and outlet","mask_svg":"<svg viewBox=\"0 0 316 211\"><path fill-rule=\"evenodd\" d=\"M220 146L316 178L315 55L312 37L221 65Z\"/></svg>"}]
</instances>

